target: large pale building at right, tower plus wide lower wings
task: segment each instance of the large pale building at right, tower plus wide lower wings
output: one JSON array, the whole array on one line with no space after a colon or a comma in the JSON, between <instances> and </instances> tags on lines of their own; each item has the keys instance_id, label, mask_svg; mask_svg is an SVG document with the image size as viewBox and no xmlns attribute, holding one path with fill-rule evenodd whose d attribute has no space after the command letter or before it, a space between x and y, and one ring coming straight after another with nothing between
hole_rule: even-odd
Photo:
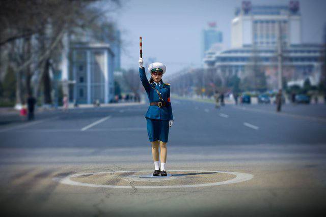
<instances>
[{"instance_id":1,"label":"large pale building at right, tower plus wide lower wings","mask_svg":"<svg viewBox=\"0 0 326 217\"><path fill-rule=\"evenodd\" d=\"M282 76L288 84L303 85L305 79L310 79L316 85L321 74L322 45L302 42L297 1L281 6L252 6L243 1L232 19L231 48L209 50L204 67L215 70L223 81L234 75L242 79L253 68L259 69L266 76L267 88L276 89L278 41L282 48Z\"/></svg>"}]
</instances>

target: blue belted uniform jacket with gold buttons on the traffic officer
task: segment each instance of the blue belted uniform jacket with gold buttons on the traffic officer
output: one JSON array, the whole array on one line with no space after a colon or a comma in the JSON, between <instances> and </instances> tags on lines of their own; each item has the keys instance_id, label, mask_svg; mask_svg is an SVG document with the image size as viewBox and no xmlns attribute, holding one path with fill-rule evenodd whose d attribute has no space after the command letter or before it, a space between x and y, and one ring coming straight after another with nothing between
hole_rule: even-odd
<instances>
[{"instance_id":1,"label":"blue belted uniform jacket with gold buttons on the traffic officer","mask_svg":"<svg viewBox=\"0 0 326 217\"><path fill-rule=\"evenodd\" d=\"M145 74L145 68L139 68L139 75L141 77L142 84L146 90L149 102L162 102L159 100L158 94L155 89L157 89L164 102L167 103L167 106L149 106L145 114L145 117L159 120L173 120L172 107L170 101L170 85L163 83L160 86L155 85L155 83L149 83ZM155 89L153 89L153 87Z\"/></svg>"}]
</instances>

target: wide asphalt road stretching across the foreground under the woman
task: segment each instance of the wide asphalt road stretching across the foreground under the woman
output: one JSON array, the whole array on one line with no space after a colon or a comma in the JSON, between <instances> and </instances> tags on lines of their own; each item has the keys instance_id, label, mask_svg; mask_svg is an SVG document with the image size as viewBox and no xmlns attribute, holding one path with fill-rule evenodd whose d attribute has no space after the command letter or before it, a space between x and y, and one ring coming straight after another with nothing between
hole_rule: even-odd
<instances>
[{"instance_id":1,"label":"wide asphalt road stretching across the foreground under the woman","mask_svg":"<svg viewBox=\"0 0 326 217\"><path fill-rule=\"evenodd\" d=\"M167 171L176 170L176 179L142 182L150 189L137 188L132 179L133 171L153 170L147 104L50 112L27 123L4 121L0 210L13 216L326 214L326 105L285 105L276 113L273 105L215 109L172 99L172 108ZM233 178L203 171L253 177L200 186ZM84 174L76 180L120 185L127 179L129 189L60 182L93 172L107 176ZM181 187L185 183L198 186ZM176 188L164 187L172 184Z\"/></svg>"}]
</instances>

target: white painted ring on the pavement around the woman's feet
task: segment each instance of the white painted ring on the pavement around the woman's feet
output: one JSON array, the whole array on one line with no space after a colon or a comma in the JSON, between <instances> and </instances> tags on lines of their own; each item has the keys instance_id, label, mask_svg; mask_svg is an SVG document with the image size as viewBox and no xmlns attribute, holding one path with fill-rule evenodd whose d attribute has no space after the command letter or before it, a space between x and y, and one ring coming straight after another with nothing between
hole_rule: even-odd
<instances>
[{"instance_id":1,"label":"white painted ring on the pavement around the woman's feet","mask_svg":"<svg viewBox=\"0 0 326 217\"><path fill-rule=\"evenodd\" d=\"M208 187L214 185L222 185L222 184L232 184L242 181L248 181L254 177L254 175L249 173L239 173L239 172L227 172L227 171L209 171L209 170L169 170L170 172L216 172L216 173L226 173L235 175L236 177L226 181L205 183L205 184L188 184L188 185L167 185L167 186L133 186L130 185L106 185L106 184L91 184L91 183L83 183L72 181L70 178L83 176L83 175L93 175L93 174L103 174L103 173L112 173L112 172L91 172L91 173L79 173L72 174L63 179L60 179L59 182L63 184L70 184L75 186L84 186L84 187L93 187L93 188L113 188L113 189L170 189L170 188L197 188L197 187ZM139 170L139 171L115 171L113 173L127 173L127 172L152 172L152 170ZM57 178L53 178L53 180L58 180Z\"/></svg>"}]
</instances>

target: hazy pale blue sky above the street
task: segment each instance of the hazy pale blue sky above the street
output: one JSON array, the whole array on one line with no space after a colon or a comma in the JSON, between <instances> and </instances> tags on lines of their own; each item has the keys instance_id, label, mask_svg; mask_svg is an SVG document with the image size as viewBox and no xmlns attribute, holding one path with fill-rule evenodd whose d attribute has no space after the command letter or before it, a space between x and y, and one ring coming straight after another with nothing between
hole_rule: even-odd
<instances>
[{"instance_id":1,"label":"hazy pale blue sky above the street","mask_svg":"<svg viewBox=\"0 0 326 217\"><path fill-rule=\"evenodd\" d=\"M201 32L216 22L226 48L231 45L231 20L242 0L121 0L114 16L123 40L121 67L138 69L139 37L145 67L149 58L164 63L167 74L201 64ZM302 0L302 40L321 43L326 24L326 0ZM289 1L256 0L252 5L288 5Z\"/></svg>"}]
</instances>

